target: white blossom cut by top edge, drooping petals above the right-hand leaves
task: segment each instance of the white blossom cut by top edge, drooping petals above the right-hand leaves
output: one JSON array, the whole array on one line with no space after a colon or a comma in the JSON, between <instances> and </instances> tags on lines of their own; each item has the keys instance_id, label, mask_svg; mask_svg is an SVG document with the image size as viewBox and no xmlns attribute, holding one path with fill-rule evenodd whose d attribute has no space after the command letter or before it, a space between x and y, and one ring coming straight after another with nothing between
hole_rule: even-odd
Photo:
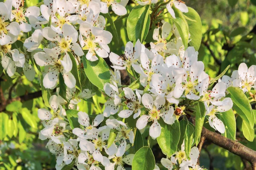
<instances>
[{"instance_id":1,"label":"white blossom cut by top edge, drooping petals above the right-hand leaves","mask_svg":"<svg viewBox=\"0 0 256 170\"><path fill-rule=\"evenodd\" d=\"M164 0L164 1L166 2L166 0ZM166 5L166 8L169 11L169 13L172 15L173 18L176 18L175 17L175 12L172 9L173 5L175 6L175 8L177 8L181 12L184 12L184 13L189 12L188 7L186 6L186 4L182 0L170 0L170 2Z\"/></svg>"}]
</instances>

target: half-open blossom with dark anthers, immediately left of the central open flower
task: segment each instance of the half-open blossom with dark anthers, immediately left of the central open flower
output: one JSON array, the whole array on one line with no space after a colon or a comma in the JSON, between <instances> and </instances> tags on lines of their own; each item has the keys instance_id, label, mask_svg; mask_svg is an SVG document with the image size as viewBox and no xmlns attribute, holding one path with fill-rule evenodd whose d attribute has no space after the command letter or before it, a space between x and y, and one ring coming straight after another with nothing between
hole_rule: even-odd
<instances>
[{"instance_id":1,"label":"half-open blossom with dark anthers, immediately left of the central open flower","mask_svg":"<svg viewBox=\"0 0 256 170\"><path fill-rule=\"evenodd\" d=\"M127 102L127 107L129 108L128 110L122 110L118 113L119 117L122 118L128 118L129 116L134 113L133 118L136 119L137 117L140 116L140 108L143 108L141 106L141 96L140 93L136 90L136 96L134 92L131 90L131 88L123 88L123 91L125 92L125 97L128 99Z\"/></svg>"}]
</instances>

